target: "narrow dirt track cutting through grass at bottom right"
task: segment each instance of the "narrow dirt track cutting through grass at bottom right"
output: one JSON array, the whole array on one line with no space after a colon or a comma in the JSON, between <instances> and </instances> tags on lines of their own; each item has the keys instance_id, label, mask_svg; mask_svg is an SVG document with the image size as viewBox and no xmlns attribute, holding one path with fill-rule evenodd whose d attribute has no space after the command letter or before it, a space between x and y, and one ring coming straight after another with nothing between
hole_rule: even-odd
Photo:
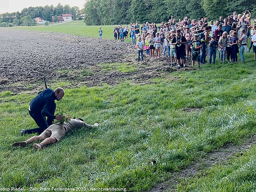
<instances>
[{"instance_id":1,"label":"narrow dirt track cutting through grass at bottom right","mask_svg":"<svg viewBox=\"0 0 256 192\"><path fill-rule=\"evenodd\" d=\"M200 172L200 169L202 169L202 165L204 166L204 169L207 169L217 163L224 163L235 153L242 154L244 151L251 148L252 144L256 144L256 135L251 136L251 138L239 146L227 144L219 150L208 153L203 159L195 161L192 165L189 165L180 172L170 173L170 178L168 180L156 184L150 192L176 192L176 185L179 183L180 178L186 180L188 177L196 176L196 174Z\"/></svg>"}]
</instances>

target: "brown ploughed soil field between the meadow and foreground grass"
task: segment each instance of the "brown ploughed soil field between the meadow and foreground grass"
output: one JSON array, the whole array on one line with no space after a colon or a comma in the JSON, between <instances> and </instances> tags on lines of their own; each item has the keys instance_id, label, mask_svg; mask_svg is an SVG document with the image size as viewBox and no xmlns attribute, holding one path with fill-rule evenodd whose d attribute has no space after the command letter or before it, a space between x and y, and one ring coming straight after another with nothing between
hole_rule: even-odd
<instances>
[{"instance_id":1,"label":"brown ploughed soil field between the meadow and foreground grass","mask_svg":"<svg viewBox=\"0 0 256 192\"><path fill-rule=\"evenodd\" d=\"M48 87L66 81L69 84L64 88L70 88L115 85L126 80L148 84L152 78L177 71L166 58L137 63L135 46L126 42L103 40L100 43L96 38L12 28L0 28L0 38L0 92L44 89L44 77ZM108 63L134 64L136 70L105 70L104 64Z\"/></svg>"}]
</instances>

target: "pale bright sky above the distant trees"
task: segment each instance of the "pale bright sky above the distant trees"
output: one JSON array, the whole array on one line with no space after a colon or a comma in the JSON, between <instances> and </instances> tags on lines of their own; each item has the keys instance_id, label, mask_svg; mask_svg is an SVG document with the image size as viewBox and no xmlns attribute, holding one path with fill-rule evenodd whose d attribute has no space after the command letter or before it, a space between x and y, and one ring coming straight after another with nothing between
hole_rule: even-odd
<instances>
[{"instance_id":1,"label":"pale bright sky above the distant trees","mask_svg":"<svg viewBox=\"0 0 256 192\"><path fill-rule=\"evenodd\" d=\"M0 14L4 12L21 12L23 8L37 7L44 5L57 6L58 3L65 5L69 4L70 7L77 6L83 8L86 0L0 0Z\"/></svg>"}]
</instances>

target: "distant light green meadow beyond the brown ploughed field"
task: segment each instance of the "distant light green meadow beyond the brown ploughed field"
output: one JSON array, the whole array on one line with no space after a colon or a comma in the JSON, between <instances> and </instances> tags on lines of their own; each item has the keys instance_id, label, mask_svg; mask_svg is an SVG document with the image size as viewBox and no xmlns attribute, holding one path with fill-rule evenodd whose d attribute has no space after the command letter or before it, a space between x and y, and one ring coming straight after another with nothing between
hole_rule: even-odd
<instances>
[{"instance_id":1,"label":"distant light green meadow beyond the brown ploughed field","mask_svg":"<svg viewBox=\"0 0 256 192\"><path fill-rule=\"evenodd\" d=\"M123 25L126 26L126 25ZM38 25L33 27L13 27L16 29L32 30L32 31L50 31L50 32L63 32L78 36L99 37L99 29L102 27L103 39L114 39L113 30L114 25L103 26L87 26L84 24L84 20L76 20L68 23L57 25ZM128 40L127 40L128 41ZM129 39L130 41L130 39Z\"/></svg>"}]
</instances>

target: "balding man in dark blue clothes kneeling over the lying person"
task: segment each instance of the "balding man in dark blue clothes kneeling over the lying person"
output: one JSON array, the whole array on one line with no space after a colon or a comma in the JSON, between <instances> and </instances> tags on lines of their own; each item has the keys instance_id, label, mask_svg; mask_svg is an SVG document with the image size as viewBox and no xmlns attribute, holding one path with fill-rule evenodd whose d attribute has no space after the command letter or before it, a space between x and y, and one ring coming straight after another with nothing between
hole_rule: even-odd
<instances>
[{"instance_id":1,"label":"balding man in dark blue clothes kneeling over the lying person","mask_svg":"<svg viewBox=\"0 0 256 192\"><path fill-rule=\"evenodd\" d=\"M28 106L29 115L35 120L39 128L21 129L20 135L38 133L41 134L46 128L52 125L54 119L61 120L62 115L55 116L56 104L65 95L63 88L45 89L36 96ZM47 120L46 120L47 117Z\"/></svg>"}]
</instances>

